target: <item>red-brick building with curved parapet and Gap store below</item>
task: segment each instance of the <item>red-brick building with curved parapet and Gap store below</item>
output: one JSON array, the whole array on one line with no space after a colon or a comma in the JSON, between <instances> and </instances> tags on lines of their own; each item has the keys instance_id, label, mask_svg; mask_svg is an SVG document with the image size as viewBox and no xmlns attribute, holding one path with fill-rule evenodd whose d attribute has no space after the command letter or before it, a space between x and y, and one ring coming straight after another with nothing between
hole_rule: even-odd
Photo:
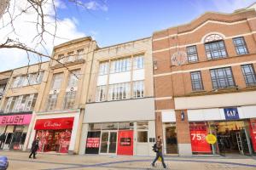
<instances>
[{"instance_id":1,"label":"red-brick building with curved parapet and Gap store below","mask_svg":"<svg viewBox=\"0 0 256 170\"><path fill-rule=\"evenodd\" d=\"M166 154L256 151L255 41L254 9L154 32L156 133Z\"/></svg>"}]
</instances>

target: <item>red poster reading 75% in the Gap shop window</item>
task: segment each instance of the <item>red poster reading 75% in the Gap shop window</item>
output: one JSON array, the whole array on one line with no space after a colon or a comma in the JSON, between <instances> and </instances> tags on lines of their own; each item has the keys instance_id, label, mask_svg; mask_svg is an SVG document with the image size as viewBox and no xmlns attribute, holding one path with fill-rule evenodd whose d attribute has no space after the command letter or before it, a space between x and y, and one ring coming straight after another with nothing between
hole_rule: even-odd
<instances>
[{"instance_id":1,"label":"red poster reading 75% in the Gap shop window","mask_svg":"<svg viewBox=\"0 0 256 170\"><path fill-rule=\"evenodd\" d=\"M211 153L211 145L207 143L207 125L204 123L190 124L190 140L193 152Z\"/></svg>"}]
</instances>

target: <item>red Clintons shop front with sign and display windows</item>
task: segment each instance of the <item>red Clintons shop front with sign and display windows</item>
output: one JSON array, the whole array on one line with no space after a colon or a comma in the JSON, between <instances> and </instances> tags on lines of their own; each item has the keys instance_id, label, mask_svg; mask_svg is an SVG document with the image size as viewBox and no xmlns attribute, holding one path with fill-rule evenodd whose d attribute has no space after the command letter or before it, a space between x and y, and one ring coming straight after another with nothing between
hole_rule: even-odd
<instances>
[{"instance_id":1,"label":"red Clintons shop front with sign and display windows","mask_svg":"<svg viewBox=\"0 0 256 170\"><path fill-rule=\"evenodd\" d=\"M74 117L38 119L35 138L39 138L41 152L67 153L73 131Z\"/></svg>"}]
</instances>

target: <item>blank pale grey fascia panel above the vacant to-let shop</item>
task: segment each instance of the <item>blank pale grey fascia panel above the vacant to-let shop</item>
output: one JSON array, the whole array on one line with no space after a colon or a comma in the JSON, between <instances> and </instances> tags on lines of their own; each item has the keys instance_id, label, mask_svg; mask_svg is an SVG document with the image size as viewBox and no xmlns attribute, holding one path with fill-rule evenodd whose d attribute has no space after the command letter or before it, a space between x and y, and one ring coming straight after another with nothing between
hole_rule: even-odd
<instances>
[{"instance_id":1,"label":"blank pale grey fascia panel above the vacant to-let shop","mask_svg":"<svg viewBox=\"0 0 256 170\"><path fill-rule=\"evenodd\" d=\"M154 120L154 98L87 104L84 123Z\"/></svg>"}]
</instances>

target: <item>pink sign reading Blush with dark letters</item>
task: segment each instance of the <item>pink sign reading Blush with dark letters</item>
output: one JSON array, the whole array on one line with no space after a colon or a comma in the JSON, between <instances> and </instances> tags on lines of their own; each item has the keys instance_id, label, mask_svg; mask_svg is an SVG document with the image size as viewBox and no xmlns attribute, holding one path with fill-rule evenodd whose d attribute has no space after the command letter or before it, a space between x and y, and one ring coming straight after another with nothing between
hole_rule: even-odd
<instances>
[{"instance_id":1,"label":"pink sign reading Blush with dark letters","mask_svg":"<svg viewBox=\"0 0 256 170\"><path fill-rule=\"evenodd\" d=\"M0 125L26 125L31 121L32 114L0 116Z\"/></svg>"}]
</instances>

